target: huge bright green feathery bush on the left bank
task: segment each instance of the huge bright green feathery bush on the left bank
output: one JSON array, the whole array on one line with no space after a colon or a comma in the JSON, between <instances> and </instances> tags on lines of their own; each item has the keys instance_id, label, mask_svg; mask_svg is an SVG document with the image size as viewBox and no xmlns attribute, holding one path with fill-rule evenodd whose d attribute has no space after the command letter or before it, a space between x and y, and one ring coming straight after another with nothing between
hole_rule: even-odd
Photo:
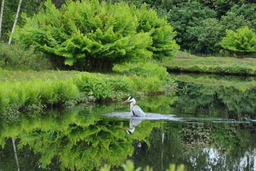
<instances>
[{"instance_id":1,"label":"huge bright green feathery bush on the left bank","mask_svg":"<svg viewBox=\"0 0 256 171\"><path fill-rule=\"evenodd\" d=\"M175 32L154 10L129 7L126 3L108 5L98 1L67 1L56 9L51 1L46 10L16 31L16 41L35 45L48 53L52 63L78 70L112 70L114 64L172 57L179 46ZM64 68L64 66L63 66Z\"/></svg>"}]
</instances>

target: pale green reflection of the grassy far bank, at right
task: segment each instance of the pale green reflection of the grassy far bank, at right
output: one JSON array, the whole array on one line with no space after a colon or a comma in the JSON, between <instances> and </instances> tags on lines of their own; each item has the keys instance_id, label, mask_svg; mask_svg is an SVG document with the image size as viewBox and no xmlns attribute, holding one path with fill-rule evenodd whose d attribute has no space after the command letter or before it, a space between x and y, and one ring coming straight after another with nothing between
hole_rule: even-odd
<instances>
[{"instance_id":1,"label":"pale green reflection of the grassy far bank, at right","mask_svg":"<svg viewBox=\"0 0 256 171\"><path fill-rule=\"evenodd\" d=\"M255 88L256 85L255 77L179 74L177 76L172 75L172 78L180 82L203 84L204 86L234 87L240 91Z\"/></svg>"}]
</instances>

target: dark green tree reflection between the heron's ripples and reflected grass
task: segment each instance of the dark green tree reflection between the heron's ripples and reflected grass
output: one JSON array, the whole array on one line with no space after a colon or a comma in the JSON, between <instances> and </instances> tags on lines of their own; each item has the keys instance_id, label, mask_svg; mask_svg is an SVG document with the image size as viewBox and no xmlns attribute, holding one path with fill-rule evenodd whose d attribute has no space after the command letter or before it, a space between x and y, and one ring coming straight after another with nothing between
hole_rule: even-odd
<instances>
[{"instance_id":1,"label":"dark green tree reflection between the heron's ripples and reflected grass","mask_svg":"<svg viewBox=\"0 0 256 171\"><path fill-rule=\"evenodd\" d=\"M180 83L181 85L181 83ZM179 92L174 102L176 112L233 119L256 117L256 88L238 89L183 83L186 92Z\"/></svg>"}]
</instances>

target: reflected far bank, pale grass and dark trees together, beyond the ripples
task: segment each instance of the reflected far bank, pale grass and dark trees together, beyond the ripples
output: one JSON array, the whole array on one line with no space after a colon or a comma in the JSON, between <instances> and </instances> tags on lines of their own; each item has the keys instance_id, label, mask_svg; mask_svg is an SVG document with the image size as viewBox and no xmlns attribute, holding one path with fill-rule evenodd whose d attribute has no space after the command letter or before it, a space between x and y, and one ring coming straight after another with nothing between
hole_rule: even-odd
<instances>
[{"instance_id":1,"label":"reflected far bank, pale grass and dark trees together, beyond the ripples","mask_svg":"<svg viewBox=\"0 0 256 171\"><path fill-rule=\"evenodd\" d=\"M179 75L177 80L185 82L187 91L180 93L174 105L185 113L237 119L255 114L254 78ZM234 112L242 114L234 116Z\"/></svg>"}]
</instances>

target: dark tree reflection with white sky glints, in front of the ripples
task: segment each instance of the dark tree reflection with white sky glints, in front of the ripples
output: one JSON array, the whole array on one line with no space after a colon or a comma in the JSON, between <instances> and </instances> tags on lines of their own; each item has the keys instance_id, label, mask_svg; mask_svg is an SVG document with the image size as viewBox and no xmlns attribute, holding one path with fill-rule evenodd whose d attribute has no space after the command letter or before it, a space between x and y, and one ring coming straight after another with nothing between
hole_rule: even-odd
<instances>
[{"instance_id":1,"label":"dark tree reflection with white sky glints, in front of the ripples","mask_svg":"<svg viewBox=\"0 0 256 171\"><path fill-rule=\"evenodd\" d=\"M255 127L254 123L168 122L151 132L150 147L135 144L135 166L164 170L175 163L187 170L243 170L243 166L253 170Z\"/></svg>"}]
</instances>

